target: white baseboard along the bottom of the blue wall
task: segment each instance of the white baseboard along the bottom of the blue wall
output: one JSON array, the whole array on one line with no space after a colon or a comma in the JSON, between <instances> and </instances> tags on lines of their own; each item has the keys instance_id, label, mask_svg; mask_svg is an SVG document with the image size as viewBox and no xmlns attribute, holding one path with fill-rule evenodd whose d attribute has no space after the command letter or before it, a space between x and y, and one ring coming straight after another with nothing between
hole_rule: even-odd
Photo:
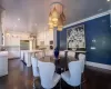
<instances>
[{"instance_id":1,"label":"white baseboard along the bottom of the blue wall","mask_svg":"<svg viewBox=\"0 0 111 89\"><path fill-rule=\"evenodd\" d=\"M97 63L97 62L90 62L90 61L87 61L85 65L87 66L97 67L97 68L111 70L111 66L110 65L103 65L103 63Z\"/></svg>"}]
</instances>

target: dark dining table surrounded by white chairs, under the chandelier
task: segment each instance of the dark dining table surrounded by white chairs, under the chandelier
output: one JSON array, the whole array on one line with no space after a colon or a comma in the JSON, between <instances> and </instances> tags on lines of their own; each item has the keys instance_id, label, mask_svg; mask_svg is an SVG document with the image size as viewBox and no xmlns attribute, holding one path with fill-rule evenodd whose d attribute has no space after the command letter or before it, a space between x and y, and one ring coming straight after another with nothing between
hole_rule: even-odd
<instances>
[{"instance_id":1,"label":"dark dining table surrounded by white chairs, under the chandelier","mask_svg":"<svg viewBox=\"0 0 111 89\"><path fill-rule=\"evenodd\" d=\"M71 61L75 61L75 59L69 59L65 56L64 57L59 57L59 58L56 58L53 56L44 56L44 57L40 58L39 61L54 63L56 72L60 75L63 71L69 70L68 69L68 63L71 62Z\"/></svg>"}]
</instances>

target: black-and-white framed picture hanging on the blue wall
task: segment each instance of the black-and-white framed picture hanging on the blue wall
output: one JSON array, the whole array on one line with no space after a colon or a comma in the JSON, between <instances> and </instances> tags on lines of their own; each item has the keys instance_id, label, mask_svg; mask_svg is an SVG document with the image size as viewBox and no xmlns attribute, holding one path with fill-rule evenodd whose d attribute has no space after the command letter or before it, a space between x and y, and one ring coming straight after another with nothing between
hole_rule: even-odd
<instances>
[{"instance_id":1,"label":"black-and-white framed picture hanging on the blue wall","mask_svg":"<svg viewBox=\"0 0 111 89\"><path fill-rule=\"evenodd\" d=\"M67 48L85 48L84 26L77 26L67 30Z\"/></svg>"}]
</instances>

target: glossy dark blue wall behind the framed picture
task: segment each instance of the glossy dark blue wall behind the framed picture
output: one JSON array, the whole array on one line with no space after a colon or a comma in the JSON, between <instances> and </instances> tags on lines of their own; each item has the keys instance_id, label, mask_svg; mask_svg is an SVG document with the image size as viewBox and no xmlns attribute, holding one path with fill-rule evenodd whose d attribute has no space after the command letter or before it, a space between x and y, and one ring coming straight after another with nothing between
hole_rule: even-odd
<instances>
[{"instance_id":1,"label":"glossy dark blue wall behind the framed picture","mask_svg":"<svg viewBox=\"0 0 111 89\"><path fill-rule=\"evenodd\" d=\"M111 65L110 14L79 24L84 24L87 60L92 62ZM67 49L67 29L68 28L63 29L63 31L61 32L58 32L58 46L60 46L61 50ZM93 42L92 40L95 41ZM94 47L95 50L92 50L91 47Z\"/></svg>"}]
</instances>

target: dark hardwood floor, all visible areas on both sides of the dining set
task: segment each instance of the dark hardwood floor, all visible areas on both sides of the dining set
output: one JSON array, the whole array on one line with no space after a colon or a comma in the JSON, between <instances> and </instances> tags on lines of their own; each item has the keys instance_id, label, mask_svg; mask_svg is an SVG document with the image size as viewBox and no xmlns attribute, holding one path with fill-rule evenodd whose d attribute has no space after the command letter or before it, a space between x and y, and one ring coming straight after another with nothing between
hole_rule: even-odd
<instances>
[{"instance_id":1,"label":"dark hardwood floor, all visible areas on both sides of the dining set","mask_svg":"<svg viewBox=\"0 0 111 89\"><path fill-rule=\"evenodd\" d=\"M83 77L82 89L111 89L111 71L85 67ZM62 89L71 88L63 80L61 85ZM9 75L0 77L0 89L33 89L32 86L31 68L27 68L20 59L9 60Z\"/></svg>"}]
</instances>

